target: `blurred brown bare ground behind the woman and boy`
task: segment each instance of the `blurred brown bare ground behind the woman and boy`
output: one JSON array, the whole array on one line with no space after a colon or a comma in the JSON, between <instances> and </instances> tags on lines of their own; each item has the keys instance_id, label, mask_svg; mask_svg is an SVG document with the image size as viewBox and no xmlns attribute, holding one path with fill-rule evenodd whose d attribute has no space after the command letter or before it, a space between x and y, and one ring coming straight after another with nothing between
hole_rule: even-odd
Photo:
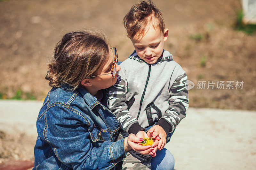
<instances>
[{"instance_id":1,"label":"blurred brown bare ground behind the woman and boy","mask_svg":"<svg viewBox=\"0 0 256 170\"><path fill-rule=\"evenodd\" d=\"M195 84L189 90L190 107L256 110L256 27L242 22L241 1L154 2L169 29L164 49L170 51ZM56 43L70 31L103 29L111 46L117 48L119 60L124 61L134 48L122 21L137 3L1 0L0 99L43 100L50 90L44 79L47 63ZM205 88L197 89L203 81ZM208 81L215 83L209 89ZM217 81L226 85L234 81L234 89L218 89ZM236 81L243 81L243 87L236 89ZM32 160L30 152L24 153L29 154L27 158Z\"/></svg>"}]
</instances>

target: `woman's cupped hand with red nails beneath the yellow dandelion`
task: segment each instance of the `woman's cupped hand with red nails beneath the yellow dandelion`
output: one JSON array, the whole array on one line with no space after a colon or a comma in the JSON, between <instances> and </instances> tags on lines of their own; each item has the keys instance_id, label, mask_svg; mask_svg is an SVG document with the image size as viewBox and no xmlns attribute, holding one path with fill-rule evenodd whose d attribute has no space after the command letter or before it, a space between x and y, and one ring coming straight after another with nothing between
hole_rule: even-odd
<instances>
[{"instance_id":1,"label":"woman's cupped hand with red nails beneath the yellow dandelion","mask_svg":"<svg viewBox=\"0 0 256 170\"><path fill-rule=\"evenodd\" d=\"M152 146L142 146L138 143L142 142L143 138L136 137L134 134L130 134L128 137L124 138L124 149L125 152L134 150L143 155L150 155L150 152L154 150ZM152 144L153 145L153 144Z\"/></svg>"}]
</instances>

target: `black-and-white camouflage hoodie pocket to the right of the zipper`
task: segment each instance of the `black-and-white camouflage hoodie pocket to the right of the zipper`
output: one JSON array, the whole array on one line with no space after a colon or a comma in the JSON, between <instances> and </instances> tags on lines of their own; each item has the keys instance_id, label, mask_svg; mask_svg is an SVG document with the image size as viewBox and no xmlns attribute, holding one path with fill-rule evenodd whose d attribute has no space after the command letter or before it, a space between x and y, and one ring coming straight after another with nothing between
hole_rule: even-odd
<instances>
[{"instance_id":1,"label":"black-and-white camouflage hoodie pocket to the right of the zipper","mask_svg":"<svg viewBox=\"0 0 256 170\"><path fill-rule=\"evenodd\" d=\"M153 102L146 107L146 113L149 126L154 125L162 117L161 110Z\"/></svg>"}]
</instances>

